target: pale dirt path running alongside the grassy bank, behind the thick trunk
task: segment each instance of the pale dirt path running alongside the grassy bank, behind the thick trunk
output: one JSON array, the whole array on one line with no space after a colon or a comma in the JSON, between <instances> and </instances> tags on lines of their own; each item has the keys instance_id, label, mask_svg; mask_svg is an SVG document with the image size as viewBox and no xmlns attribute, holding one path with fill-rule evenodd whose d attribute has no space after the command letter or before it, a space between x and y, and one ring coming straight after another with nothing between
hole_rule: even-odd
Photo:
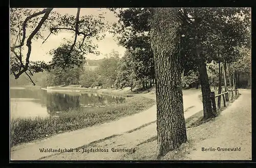
<instances>
[{"instance_id":1,"label":"pale dirt path running alongside the grassy bank, behind the thick trunk","mask_svg":"<svg viewBox=\"0 0 256 168\"><path fill-rule=\"evenodd\" d=\"M202 103L198 99L198 94L200 94L200 91L196 90L192 91L191 93L192 94L190 94L190 91L184 91L183 95L184 109L189 108L189 110L185 113L186 117L189 117L195 114L196 112L202 110ZM49 160L51 159L51 157L48 158L48 156L51 156L55 153L40 152L39 149L76 149L84 145L88 145L89 143L96 140L108 138L113 135L119 135L134 129L138 129L143 125L148 125L147 127L152 128L148 129L147 127L144 127L144 129L140 129L140 132L131 132L134 134L133 136L131 136L131 134L124 134L122 138L119 138L119 141L125 143L125 146L131 147L133 146L134 143L143 141L144 139L148 139L148 137L155 135L155 121L156 105L143 112L121 118L117 121L104 123L98 126L93 126L72 132L58 134L48 139L40 140L33 143L26 143L22 146L14 147L11 149L11 160L36 160L39 158L45 158L45 160ZM148 123L153 124L150 125ZM148 130L153 130L153 132ZM137 141L134 139L137 139ZM63 154L67 156L65 158L62 158L61 155ZM61 153L60 155L53 155L52 157L56 156L57 158L55 159L57 160L67 160L67 158L69 158L68 155L73 155L70 156L73 157L72 160L84 160L84 158L80 158L78 154L79 153L75 152L74 150L73 153ZM99 157L97 153L95 154L97 159L104 159L103 157ZM80 156L82 155L80 154ZM91 160L92 158L89 159ZM71 160L71 158L69 158L69 160Z\"/></svg>"}]
</instances>

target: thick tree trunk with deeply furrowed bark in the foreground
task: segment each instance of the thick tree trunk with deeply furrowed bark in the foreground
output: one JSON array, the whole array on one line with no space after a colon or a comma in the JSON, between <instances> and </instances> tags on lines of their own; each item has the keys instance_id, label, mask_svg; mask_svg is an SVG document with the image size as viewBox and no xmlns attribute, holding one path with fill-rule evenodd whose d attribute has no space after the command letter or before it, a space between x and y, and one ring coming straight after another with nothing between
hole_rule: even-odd
<instances>
[{"instance_id":1,"label":"thick tree trunk with deeply furrowed bark in the foreground","mask_svg":"<svg viewBox=\"0 0 256 168\"><path fill-rule=\"evenodd\" d=\"M151 46L157 100L157 159L187 141L183 111L177 9L154 8Z\"/></svg>"}]
</instances>

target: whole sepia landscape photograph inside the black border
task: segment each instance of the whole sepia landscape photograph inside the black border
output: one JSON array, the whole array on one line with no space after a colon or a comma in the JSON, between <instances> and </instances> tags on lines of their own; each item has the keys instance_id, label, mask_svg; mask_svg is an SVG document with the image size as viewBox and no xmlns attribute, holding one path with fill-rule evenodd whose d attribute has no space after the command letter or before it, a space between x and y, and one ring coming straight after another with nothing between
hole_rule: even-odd
<instances>
[{"instance_id":1,"label":"whole sepia landscape photograph inside the black border","mask_svg":"<svg viewBox=\"0 0 256 168\"><path fill-rule=\"evenodd\" d=\"M10 8L10 162L252 160L251 8Z\"/></svg>"}]
</instances>

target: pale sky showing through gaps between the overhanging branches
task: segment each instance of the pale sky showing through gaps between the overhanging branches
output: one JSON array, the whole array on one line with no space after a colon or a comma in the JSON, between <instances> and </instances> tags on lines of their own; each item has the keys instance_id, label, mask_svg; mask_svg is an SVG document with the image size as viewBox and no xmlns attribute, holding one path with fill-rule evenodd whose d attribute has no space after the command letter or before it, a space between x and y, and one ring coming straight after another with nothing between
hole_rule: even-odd
<instances>
[{"instance_id":1,"label":"pale sky showing through gaps between the overhanging branches","mask_svg":"<svg viewBox=\"0 0 256 168\"><path fill-rule=\"evenodd\" d=\"M76 16L77 9L76 8L54 8L53 11L58 12L61 15L70 14ZM98 15L100 13L106 12L103 16L105 20L114 23L118 21L118 18L115 17L114 13L105 8L81 8L80 16L82 15ZM44 34L45 37L48 36L48 32ZM42 40L33 40L32 41L32 51L30 55L31 61L46 61L49 62L52 59L52 56L48 54L48 52L52 49L56 49L59 46L63 38L73 39L71 38L72 34L65 32L65 30L61 31L57 35L51 35L47 42L42 44ZM112 34L109 32L105 32L105 37L103 40L94 41L98 44L98 51L101 53L99 56L94 54L88 54L86 56L87 59L102 59L104 58L105 54L111 53L113 50L119 52L120 57L123 56L125 48L119 46L117 44L116 39L113 37ZM23 52L24 55L27 54L27 47L25 47L25 51Z\"/></svg>"}]
</instances>

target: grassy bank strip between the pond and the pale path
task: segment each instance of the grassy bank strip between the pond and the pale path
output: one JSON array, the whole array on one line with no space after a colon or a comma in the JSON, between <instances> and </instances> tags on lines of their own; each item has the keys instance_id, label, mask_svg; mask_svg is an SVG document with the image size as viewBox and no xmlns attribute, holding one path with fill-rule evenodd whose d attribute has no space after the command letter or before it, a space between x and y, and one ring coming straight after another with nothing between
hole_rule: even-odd
<instances>
[{"instance_id":1,"label":"grassy bank strip between the pond and the pale path","mask_svg":"<svg viewBox=\"0 0 256 168\"><path fill-rule=\"evenodd\" d=\"M81 108L59 113L59 117L16 118L11 120L11 147L19 143L42 139L113 121L143 111L155 104L152 99L127 97L125 102L102 108Z\"/></svg>"}]
</instances>

